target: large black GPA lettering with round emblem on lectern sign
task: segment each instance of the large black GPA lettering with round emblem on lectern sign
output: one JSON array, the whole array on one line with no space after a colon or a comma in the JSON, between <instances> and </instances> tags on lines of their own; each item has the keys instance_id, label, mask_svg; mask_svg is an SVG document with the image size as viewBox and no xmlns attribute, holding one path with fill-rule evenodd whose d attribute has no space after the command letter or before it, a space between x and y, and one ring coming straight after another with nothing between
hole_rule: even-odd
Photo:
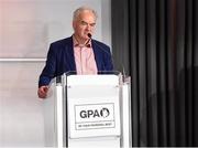
<instances>
[{"instance_id":1,"label":"large black GPA lettering with round emblem on lectern sign","mask_svg":"<svg viewBox=\"0 0 198 148\"><path fill-rule=\"evenodd\" d=\"M81 118L106 118L110 115L110 112L107 107L103 107L101 109L88 109L88 110L81 110L79 113Z\"/></svg>"}]
</instances>

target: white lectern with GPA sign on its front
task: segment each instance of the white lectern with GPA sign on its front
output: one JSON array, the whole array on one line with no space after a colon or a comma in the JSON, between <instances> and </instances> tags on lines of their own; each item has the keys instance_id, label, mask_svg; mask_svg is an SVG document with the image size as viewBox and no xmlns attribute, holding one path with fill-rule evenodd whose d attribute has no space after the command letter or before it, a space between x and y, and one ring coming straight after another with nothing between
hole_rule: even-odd
<instances>
[{"instance_id":1,"label":"white lectern with GPA sign on its front","mask_svg":"<svg viewBox=\"0 0 198 148\"><path fill-rule=\"evenodd\" d=\"M46 142L51 144L46 146L132 146L129 77L64 74L59 80L53 83L51 99L45 99L45 109L50 109L47 102L52 102L51 106L54 104L51 107L54 108L54 124L46 126Z\"/></svg>"}]
</instances>

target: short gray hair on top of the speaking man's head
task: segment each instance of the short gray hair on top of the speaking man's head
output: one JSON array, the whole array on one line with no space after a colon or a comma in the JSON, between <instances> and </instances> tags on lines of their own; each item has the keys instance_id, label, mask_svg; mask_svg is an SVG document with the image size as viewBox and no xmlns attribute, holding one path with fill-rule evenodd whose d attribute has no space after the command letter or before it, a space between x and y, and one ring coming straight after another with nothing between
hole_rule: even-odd
<instances>
[{"instance_id":1,"label":"short gray hair on top of the speaking man's head","mask_svg":"<svg viewBox=\"0 0 198 148\"><path fill-rule=\"evenodd\" d=\"M95 15L96 19L98 18L98 14L94 9L91 9L89 7L80 7L74 11L73 21L76 20L79 17L79 14L84 11L90 11L90 12L92 12L92 14Z\"/></svg>"}]
</instances>

